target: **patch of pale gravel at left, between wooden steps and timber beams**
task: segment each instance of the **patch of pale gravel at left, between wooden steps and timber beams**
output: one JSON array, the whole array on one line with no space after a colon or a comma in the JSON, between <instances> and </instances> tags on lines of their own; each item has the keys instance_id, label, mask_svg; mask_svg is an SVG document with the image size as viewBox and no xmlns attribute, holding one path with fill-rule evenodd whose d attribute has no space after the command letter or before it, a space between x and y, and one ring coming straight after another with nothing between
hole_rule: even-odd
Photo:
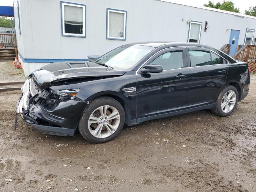
<instances>
[{"instance_id":1,"label":"patch of pale gravel at left, between wooden steps and timber beams","mask_svg":"<svg viewBox=\"0 0 256 192\"><path fill-rule=\"evenodd\" d=\"M22 69L14 68L12 62L0 62L0 82L25 81Z\"/></svg>"}]
</instances>

